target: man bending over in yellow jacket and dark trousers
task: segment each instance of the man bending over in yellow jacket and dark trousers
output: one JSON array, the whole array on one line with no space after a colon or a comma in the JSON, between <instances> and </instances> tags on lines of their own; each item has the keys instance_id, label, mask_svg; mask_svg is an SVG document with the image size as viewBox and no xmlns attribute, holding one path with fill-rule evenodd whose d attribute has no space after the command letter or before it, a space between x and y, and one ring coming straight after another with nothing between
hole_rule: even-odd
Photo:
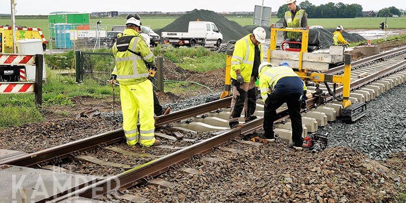
<instances>
[{"instance_id":1,"label":"man bending over in yellow jacket and dark trousers","mask_svg":"<svg viewBox=\"0 0 406 203\"><path fill-rule=\"evenodd\" d=\"M276 110L285 102L292 121L293 147L301 148L303 144L300 108L306 108L306 91L300 77L293 72L287 62L274 67L269 62L259 65L259 88L264 102L263 129L261 138L274 139L274 121L278 118Z\"/></svg>"}]
</instances>

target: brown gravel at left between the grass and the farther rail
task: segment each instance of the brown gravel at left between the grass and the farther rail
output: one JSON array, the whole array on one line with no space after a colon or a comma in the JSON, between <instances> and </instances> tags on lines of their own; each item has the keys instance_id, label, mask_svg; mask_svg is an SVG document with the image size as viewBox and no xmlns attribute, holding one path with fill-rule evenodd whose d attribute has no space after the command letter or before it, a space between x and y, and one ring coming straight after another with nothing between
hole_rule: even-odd
<instances>
[{"instance_id":1,"label":"brown gravel at left between the grass and the farther rail","mask_svg":"<svg viewBox=\"0 0 406 203\"><path fill-rule=\"evenodd\" d=\"M111 117L27 123L0 131L0 149L36 152L120 127Z\"/></svg>"}]
</instances>

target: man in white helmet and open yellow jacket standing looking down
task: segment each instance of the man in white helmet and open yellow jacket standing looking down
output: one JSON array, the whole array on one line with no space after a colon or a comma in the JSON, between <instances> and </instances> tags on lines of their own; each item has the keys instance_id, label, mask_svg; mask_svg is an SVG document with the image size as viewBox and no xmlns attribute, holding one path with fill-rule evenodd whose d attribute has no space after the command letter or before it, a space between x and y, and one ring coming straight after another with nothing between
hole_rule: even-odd
<instances>
[{"instance_id":1,"label":"man in white helmet and open yellow jacket standing looking down","mask_svg":"<svg viewBox=\"0 0 406 203\"><path fill-rule=\"evenodd\" d=\"M258 77L258 66L263 61L261 43L265 42L266 32L262 27L257 27L253 32L235 43L231 58L231 85L233 96L231 99L231 111L229 126L239 124L243 108L245 110L245 122L256 119L255 81Z\"/></svg>"}]
</instances>

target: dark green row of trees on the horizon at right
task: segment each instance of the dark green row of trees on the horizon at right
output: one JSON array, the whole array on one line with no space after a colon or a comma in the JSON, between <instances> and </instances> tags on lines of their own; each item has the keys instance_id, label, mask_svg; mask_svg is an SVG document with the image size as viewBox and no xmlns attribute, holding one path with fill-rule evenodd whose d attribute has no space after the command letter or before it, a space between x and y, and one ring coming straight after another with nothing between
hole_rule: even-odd
<instances>
[{"instance_id":1,"label":"dark green row of trees on the horizon at right","mask_svg":"<svg viewBox=\"0 0 406 203\"><path fill-rule=\"evenodd\" d=\"M313 5L309 1L304 1L299 4L301 9L306 10L308 18L355 18L362 17L362 6L359 4L343 4L332 2L327 4L322 4L320 6ZM289 11L289 8L286 4L282 5L278 9L277 16L278 18L283 18L285 12ZM379 17L391 17L392 15L400 16L402 12L395 8L389 7L381 9L378 12Z\"/></svg>"}]
</instances>

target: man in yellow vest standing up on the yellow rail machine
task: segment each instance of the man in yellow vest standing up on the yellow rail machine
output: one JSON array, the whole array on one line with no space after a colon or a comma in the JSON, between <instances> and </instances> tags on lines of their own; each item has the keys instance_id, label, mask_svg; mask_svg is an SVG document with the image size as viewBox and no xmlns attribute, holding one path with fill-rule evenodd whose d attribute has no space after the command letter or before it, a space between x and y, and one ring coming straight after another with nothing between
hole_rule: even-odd
<instances>
[{"instance_id":1,"label":"man in yellow vest standing up on the yellow rail machine","mask_svg":"<svg viewBox=\"0 0 406 203\"><path fill-rule=\"evenodd\" d=\"M308 14L303 9L300 9L298 5L296 5L295 0L287 0L287 5L289 11L285 12L285 18L283 21L283 28L286 27L307 27L308 26ZM286 42L301 42L301 32L283 32L283 39ZM290 44L289 47L291 48L300 48L301 46L296 44Z\"/></svg>"}]
</instances>

